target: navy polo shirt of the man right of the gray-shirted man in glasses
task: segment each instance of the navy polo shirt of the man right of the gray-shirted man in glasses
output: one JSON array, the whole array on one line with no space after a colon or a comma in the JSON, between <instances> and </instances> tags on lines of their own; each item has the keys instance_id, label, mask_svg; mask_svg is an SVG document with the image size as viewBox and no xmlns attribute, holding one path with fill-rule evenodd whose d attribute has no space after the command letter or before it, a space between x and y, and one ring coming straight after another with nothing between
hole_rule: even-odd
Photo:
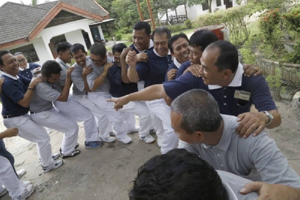
<instances>
[{"instance_id":1,"label":"navy polo shirt of the man right of the gray-shirted man in glasses","mask_svg":"<svg viewBox=\"0 0 300 200\"><path fill-rule=\"evenodd\" d=\"M137 92L137 83L124 83L121 78L121 67L114 64L108 69L107 77L110 80L110 94L112 97L123 97Z\"/></svg>"}]
</instances>

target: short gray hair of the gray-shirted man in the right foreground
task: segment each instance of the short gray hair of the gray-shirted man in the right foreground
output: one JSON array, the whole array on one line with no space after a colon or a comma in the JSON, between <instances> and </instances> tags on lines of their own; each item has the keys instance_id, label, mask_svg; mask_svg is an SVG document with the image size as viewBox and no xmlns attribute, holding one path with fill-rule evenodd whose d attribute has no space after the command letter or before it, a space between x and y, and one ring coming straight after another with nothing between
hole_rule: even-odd
<instances>
[{"instance_id":1,"label":"short gray hair of the gray-shirted man in the right foreground","mask_svg":"<svg viewBox=\"0 0 300 200\"><path fill-rule=\"evenodd\" d=\"M214 132L222 121L216 100L202 89L181 94L171 104L171 111L182 116L180 127L188 134L195 131Z\"/></svg>"}]
</instances>

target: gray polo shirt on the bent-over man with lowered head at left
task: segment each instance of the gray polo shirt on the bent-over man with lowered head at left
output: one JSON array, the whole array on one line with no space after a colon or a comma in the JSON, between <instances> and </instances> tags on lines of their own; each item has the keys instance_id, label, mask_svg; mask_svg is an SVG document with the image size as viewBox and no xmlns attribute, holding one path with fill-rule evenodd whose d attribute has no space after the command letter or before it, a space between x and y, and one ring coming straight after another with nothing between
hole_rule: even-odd
<instances>
[{"instance_id":1,"label":"gray polo shirt on the bent-over man with lowered head at left","mask_svg":"<svg viewBox=\"0 0 300 200\"><path fill-rule=\"evenodd\" d=\"M35 86L35 90L29 104L29 111L43 112L52 109L52 102L56 101L59 95L60 93L53 89L52 85L44 80L44 82Z\"/></svg>"}]
</instances>

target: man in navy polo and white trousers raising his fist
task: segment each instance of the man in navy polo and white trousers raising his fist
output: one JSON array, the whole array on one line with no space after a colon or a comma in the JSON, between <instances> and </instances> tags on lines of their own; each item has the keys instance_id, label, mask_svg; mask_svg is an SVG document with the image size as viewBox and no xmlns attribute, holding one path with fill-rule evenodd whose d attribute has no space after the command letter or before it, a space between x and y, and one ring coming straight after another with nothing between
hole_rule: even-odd
<instances>
[{"instance_id":1,"label":"man in navy polo and white trousers raising his fist","mask_svg":"<svg viewBox=\"0 0 300 200\"><path fill-rule=\"evenodd\" d=\"M152 33L154 49L147 52L148 61L137 63L137 54L135 51L128 52L126 62L129 65L128 78L131 82L145 81L144 88L161 84L165 81L167 70L172 63L171 53L168 48L168 40L171 32L167 27L156 28ZM162 122L165 133L156 132L158 135L158 145L161 145L161 152L175 148L178 140L169 139L174 134L170 121L170 107L164 102L164 99L157 99L146 102L150 112L153 112Z\"/></svg>"}]
</instances>

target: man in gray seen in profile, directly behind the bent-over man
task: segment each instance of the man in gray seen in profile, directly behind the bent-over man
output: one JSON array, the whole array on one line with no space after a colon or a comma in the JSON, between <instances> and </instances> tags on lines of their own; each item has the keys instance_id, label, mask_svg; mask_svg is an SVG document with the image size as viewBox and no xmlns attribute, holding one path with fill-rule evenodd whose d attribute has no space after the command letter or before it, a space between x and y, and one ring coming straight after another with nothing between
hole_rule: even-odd
<instances>
[{"instance_id":1,"label":"man in gray seen in profile, directly behind the bent-over man","mask_svg":"<svg viewBox=\"0 0 300 200\"><path fill-rule=\"evenodd\" d=\"M64 87L64 82L66 79L66 70L70 66L66 63L71 62L71 52L70 47L72 45L67 42L59 43L56 52L58 57L56 61L60 64L62 71L61 77L58 82L55 82L54 89L61 92ZM101 147L103 142L99 141L99 133L97 128L97 123L94 115L87 108L79 104L73 99L72 94L69 95L66 102L55 101L54 106L59 110L59 112L74 121L83 121L84 132L85 132L85 147L86 148L98 148Z\"/></svg>"}]
</instances>

